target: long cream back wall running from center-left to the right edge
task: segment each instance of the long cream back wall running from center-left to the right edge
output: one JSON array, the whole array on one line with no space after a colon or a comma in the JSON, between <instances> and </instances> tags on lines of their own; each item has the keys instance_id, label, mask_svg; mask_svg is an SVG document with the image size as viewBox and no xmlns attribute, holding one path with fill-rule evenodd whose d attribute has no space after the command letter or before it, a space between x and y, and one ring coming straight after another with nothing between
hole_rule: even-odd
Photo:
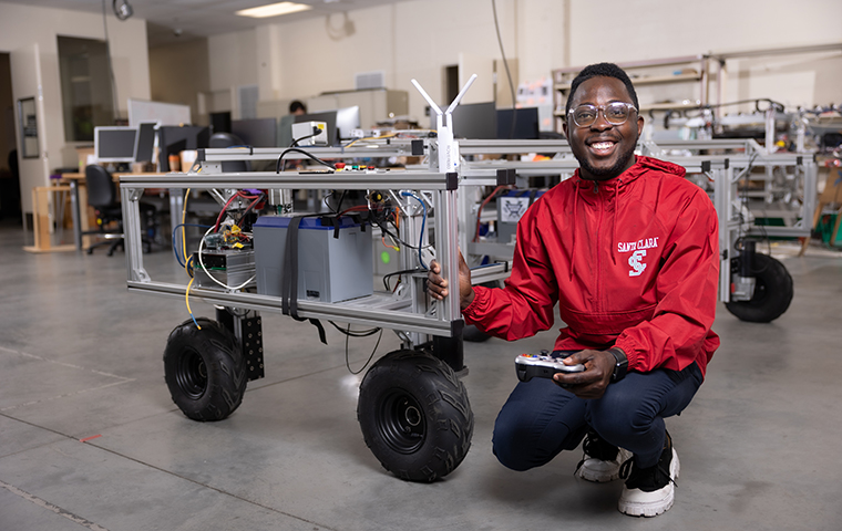
<instances>
[{"instance_id":1,"label":"long cream back wall running from center-left to the right edge","mask_svg":"<svg viewBox=\"0 0 842 531\"><path fill-rule=\"evenodd\" d=\"M563 66L842 42L839 0L499 0L507 58L520 80ZM329 38L324 18L278 22L210 38L212 85L260 87L261 100L349 90L353 74L383 70L389 88L410 94L423 121L418 81L443 100L443 69L460 53L500 59L489 0L414 0L349 12L356 33ZM341 18L331 21L339 25ZM220 53L215 53L220 50ZM726 100L769 97L790 105L842 101L842 54L730 61ZM218 84L217 83L218 80ZM500 80L503 82L503 80ZM698 97L698 88L686 88Z\"/></svg>"}]
</instances>

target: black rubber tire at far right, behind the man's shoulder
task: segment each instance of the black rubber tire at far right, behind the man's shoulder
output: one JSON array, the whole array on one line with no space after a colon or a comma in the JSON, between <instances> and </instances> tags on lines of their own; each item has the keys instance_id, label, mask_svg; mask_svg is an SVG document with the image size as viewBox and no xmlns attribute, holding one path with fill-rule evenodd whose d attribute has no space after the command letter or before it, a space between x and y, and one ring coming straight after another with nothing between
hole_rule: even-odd
<instances>
[{"instance_id":1,"label":"black rubber tire at far right, behind the man's shoulder","mask_svg":"<svg viewBox=\"0 0 842 531\"><path fill-rule=\"evenodd\" d=\"M781 315L792 302L792 277L787 268L768 254L754 254L752 275L754 293L750 301L731 301L725 306L740 321L769 323ZM740 271L740 258L731 260L731 273Z\"/></svg>"}]
</instances>

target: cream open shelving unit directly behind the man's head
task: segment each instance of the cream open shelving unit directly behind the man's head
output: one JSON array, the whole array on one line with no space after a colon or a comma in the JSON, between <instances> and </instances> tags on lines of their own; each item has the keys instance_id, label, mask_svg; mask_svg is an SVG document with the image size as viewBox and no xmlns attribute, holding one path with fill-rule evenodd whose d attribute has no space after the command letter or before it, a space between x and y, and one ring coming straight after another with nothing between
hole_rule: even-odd
<instances>
[{"instance_id":1,"label":"cream open shelving unit directly behind the man's head","mask_svg":"<svg viewBox=\"0 0 842 531\"><path fill-rule=\"evenodd\" d=\"M687 55L617 63L635 85L640 112L697 108L709 100L710 58ZM562 132L571 83L583 66L553 70L555 131Z\"/></svg>"}]
</instances>

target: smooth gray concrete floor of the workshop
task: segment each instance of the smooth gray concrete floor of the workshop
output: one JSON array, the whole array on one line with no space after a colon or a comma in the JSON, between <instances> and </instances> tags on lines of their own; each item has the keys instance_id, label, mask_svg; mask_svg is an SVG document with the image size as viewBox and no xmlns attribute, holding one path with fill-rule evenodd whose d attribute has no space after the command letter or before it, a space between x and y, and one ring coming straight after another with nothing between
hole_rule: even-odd
<instances>
[{"instance_id":1,"label":"smooth gray concrete floor of the workshop","mask_svg":"<svg viewBox=\"0 0 842 531\"><path fill-rule=\"evenodd\" d=\"M336 331L324 346L309 324L265 315L267 377L228 419L195 423L163 378L183 300L127 293L122 253L28 254L23 240L0 228L2 531L842 529L840 252L779 249L795 296L771 324L720 305L707 382L667 421L681 459L676 504L635 519L616 510L620 482L573 477L578 450L525 473L491 454L513 357L552 332L466 344L471 451L443 480L409 483L362 441L360 376ZM156 280L181 279L166 251L145 260ZM353 368L373 343L351 340ZM378 355L397 347L387 333Z\"/></svg>"}]
</instances>

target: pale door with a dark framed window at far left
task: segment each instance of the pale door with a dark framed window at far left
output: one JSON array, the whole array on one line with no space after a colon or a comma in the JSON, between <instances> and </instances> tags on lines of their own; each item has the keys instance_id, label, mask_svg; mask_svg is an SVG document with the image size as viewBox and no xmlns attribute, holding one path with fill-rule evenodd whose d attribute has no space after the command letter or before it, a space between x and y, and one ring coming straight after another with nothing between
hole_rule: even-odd
<instances>
[{"instance_id":1,"label":"pale door with a dark framed window at far left","mask_svg":"<svg viewBox=\"0 0 842 531\"><path fill-rule=\"evenodd\" d=\"M14 97L16 133L18 136L21 210L25 220L27 214L32 214L33 210L32 188L50 184L43 76L38 43L12 51L9 54L9 62L12 74L12 96ZM30 98L33 98L34 105L31 105ZM23 105L21 105L21 102L23 102ZM21 108L25 110L24 113L28 116L21 116ZM35 114L34 121L31 118L33 110ZM23 138L22 133L24 129L27 131L27 138ZM25 153L24 142L28 144ZM25 157L24 154L27 155ZM50 214L50 227L52 225L52 214Z\"/></svg>"}]
</instances>

